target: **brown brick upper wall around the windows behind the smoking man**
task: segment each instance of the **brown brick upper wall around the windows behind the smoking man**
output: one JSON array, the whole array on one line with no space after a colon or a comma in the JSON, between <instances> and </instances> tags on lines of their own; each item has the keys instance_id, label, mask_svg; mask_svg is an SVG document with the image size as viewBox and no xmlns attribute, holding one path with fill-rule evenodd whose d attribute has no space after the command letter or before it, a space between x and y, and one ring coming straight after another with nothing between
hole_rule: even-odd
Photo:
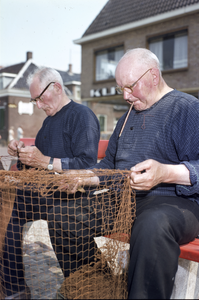
<instances>
[{"instance_id":1,"label":"brown brick upper wall around the windows behind the smoking man","mask_svg":"<svg viewBox=\"0 0 199 300\"><path fill-rule=\"evenodd\" d=\"M103 83L94 82L94 51L101 48L108 48L113 45L124 43L125 50L146 47L147 36L162 34L165 31L178 30L182 27L188 28L188 70L166 72L163 77L173 88L190 89L199 86L199 13L190 14L185 17L179 17L147 25L145 27L129 30L128 32L98 39L82 45L82 100L90 98L90 90L100 87L111 87L115 85L115 80L104 81Z\"/></svg>"}]
</instances>

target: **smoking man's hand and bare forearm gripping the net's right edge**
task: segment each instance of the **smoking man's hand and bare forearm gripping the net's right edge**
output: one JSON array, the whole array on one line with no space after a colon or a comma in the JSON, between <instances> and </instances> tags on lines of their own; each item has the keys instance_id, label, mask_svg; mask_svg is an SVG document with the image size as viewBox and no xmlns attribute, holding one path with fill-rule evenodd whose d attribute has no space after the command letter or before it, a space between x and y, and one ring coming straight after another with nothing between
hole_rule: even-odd
<instances>
[{"instance_id":1,"label":"smoking man's hand and bare forearm gripping the net's right edge","mask_svg":"<svg viewBox=\"0 0 199 300\"><path fill-rule=\"evenodd\" d=\"M130 184L135 190L148 191L160 183L191 185L190 173L184 164L167 165L153 159L131 168Z\"/></svg>"}]
</instances>

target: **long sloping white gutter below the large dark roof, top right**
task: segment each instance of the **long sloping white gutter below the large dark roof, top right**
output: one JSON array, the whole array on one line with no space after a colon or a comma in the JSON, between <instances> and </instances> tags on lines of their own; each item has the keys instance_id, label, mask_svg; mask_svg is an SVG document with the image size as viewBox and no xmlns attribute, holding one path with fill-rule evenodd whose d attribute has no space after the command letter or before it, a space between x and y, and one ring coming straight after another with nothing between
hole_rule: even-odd
<instances>
[{"instance_id":1,"label":"long sloping white gutter below the large dark roof, top right","mask_svg":"<svg viewBox=\"0 0 199 300\"><path fill-rule=\"evenodd\" d=\"M128 24L124 24L121 26L117 26L111 29L107 29L101 32L97 32L97 33L93 33L90 35L87 35L85 37L82 37L80 39L74 40L73 42L75 44L83 44L92 40L96 40L96 39L100 39L103 37L107 37L109 35L113 35L113 34L117 34L117 33L121 33L123 31L127 31L130 29L135 29L141 26L146 26L148 24L152 24L152 23L156 23L156 22L160 22L163 20L167 20L167 19L171 19L171 18L175 18L175 17L179 17L185 14L189 14L189 13L193 13L196 12L197 10L199 10L199 3L193 4L193 5L189 5L189 6L185 6L170 12L166 12L163 14L159 14L157 16L152 16L146 19L142 19L136 22L131 22Z\"/></svg>"}]
</instances>

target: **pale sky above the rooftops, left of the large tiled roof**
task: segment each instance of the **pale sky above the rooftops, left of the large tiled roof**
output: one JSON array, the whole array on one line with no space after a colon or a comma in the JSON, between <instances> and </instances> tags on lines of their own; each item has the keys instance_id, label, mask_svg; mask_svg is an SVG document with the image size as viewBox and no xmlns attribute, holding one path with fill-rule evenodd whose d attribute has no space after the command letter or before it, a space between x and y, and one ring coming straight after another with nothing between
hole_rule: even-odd
<instances>
[{"instance_id":1,"label":"pale sky above the rooftops, left of the large tiled roof","mask_svg":"<svg viewBox=\"0 0 199 300\"><path fill-rule=\"evenodd\" d=\"M83 33L108 0L0 0L0 66L24 62L81 72Z\"/></svg>"}]
</instances>

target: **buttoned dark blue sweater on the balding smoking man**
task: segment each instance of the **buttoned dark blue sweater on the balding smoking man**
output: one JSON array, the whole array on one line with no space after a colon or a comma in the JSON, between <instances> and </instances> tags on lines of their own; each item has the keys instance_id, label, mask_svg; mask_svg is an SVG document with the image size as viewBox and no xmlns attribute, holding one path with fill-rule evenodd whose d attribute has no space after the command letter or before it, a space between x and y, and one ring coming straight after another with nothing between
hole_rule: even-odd
<instances>
[{"instance_id":1,"label":"buttoned dark blue sweater on the balding smoking man","mask_svg":"<svg viewBox=\"0 0 199 300\"><path fill-rule=\"evenodd\" d=\"M163 164L185 164L191 186L159 184L137 195L182 196L199 203L199 101L173 90L144 111L135 109L120 138L126 114L118 121L106 157L93 168L130 169L154 159Z\"/></svg>"}]
</instances>

